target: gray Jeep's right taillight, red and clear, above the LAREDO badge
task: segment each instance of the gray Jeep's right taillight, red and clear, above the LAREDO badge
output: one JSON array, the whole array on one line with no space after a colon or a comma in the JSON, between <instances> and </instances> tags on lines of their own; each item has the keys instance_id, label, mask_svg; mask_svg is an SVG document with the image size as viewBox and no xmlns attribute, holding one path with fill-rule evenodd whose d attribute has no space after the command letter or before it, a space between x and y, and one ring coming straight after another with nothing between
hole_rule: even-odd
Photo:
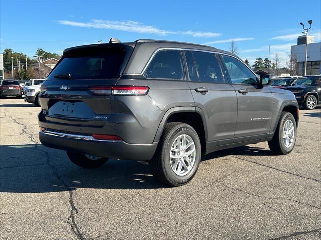
<instances>
[{"instance_id":1,"label":"gray Jeep's right taillight, red and clear, above the LAREDO badge","mask_svg":"<svg viewBox=\"0 0 321 240\"><path fill-rule=\"evenodd\" d=\"M113 86L113 87L91 87L89 90L95 95L126 95L138 96L146 95L149 87L147 86Z\"/></svg>"}]
</instances>

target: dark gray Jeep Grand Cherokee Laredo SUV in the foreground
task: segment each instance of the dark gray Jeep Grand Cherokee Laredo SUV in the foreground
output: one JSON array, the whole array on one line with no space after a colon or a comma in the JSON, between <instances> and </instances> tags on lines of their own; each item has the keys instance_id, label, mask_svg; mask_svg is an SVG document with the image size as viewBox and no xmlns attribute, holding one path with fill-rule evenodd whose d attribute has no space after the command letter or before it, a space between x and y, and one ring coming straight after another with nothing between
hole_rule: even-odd
<instances>
[{"instance_id":1,"label":"dark gray Jeep Grand Cherokee Laredo SUV in the foreground","mask_svg":"<svg viewBox=\"0 0 321 240\"><path fill-rule=\"evenodd\" d=\"M268 87L230 52L137 40L68 48L39 95L39 139L81 167L108 158L149 161L162 183L180 186L201 155L268 141L292 151L298 104Z\"/></svg>"}]
</instances>

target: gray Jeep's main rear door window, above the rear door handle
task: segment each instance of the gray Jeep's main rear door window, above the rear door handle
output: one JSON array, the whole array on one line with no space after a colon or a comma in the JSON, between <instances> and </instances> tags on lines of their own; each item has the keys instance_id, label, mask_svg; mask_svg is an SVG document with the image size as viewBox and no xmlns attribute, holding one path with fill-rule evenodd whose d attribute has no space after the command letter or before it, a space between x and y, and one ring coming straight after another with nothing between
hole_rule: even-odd
<instances>
[{"instance_id":1,"label":"gray Jeep's main rear door window, above the rear door handle","mask_svg":"<svg viewBox=\"0 0 321 240\"><path fill-rule=\"evenodd\" d=\"M193 51L200 82L225 83L214 53Z\"/></svg>"}]
</instances>

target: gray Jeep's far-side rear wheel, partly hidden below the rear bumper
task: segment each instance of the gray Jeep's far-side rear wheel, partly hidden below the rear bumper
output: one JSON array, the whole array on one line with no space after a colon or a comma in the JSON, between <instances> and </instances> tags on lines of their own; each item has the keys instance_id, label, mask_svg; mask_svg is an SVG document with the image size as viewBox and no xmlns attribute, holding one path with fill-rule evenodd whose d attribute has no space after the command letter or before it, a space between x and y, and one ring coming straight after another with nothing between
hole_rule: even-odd
<instances>
[{"instance_id":1,"label":"gray Jeep's far-side rear wheel, partly hidden below the rear bumper","mask_svg":"<svg viewBox=\"0 0 321 240\"><path fill-rule=\"evenodd\" d=\"M85 154L74 153L70 151L67 151L67 155L74 164L83 168L100 167L103 164L105 164L106 161L108 160L108 158L103 158L103 157L93 160L88 157L89 155L86 156Z\"/></svg>"}]
</instances>

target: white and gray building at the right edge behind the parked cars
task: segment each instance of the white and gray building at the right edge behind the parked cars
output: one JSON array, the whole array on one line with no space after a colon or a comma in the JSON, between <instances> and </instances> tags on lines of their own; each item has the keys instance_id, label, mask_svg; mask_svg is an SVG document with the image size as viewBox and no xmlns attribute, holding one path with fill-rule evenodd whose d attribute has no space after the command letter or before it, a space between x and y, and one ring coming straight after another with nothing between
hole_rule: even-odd
<instances>
[{"instance_id":1,"label":"white and gray building at the right edge behind the parked cars","mask_svg":"<svg viewBox=\"0 0 321 240\"><path fill-rule=\"evenodd\" d=\"M297 60L297 74L304 75L306 36L297 38L297 45L291 46L291 55ZM306 75L321 74L321 42L314 42L314 36L307 38L307 68Z\"/></svg>"}]
</instances>

